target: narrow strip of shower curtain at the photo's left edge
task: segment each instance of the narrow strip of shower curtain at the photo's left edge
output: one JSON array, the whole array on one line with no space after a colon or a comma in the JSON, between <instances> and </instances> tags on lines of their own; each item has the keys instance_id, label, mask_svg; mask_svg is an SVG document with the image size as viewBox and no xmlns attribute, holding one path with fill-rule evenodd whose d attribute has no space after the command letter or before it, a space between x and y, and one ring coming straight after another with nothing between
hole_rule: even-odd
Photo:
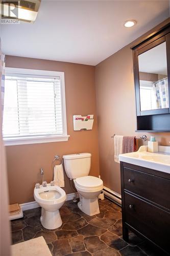
<instances>
[{"instance_id":1,"label":"narrow strip of shower curtain at the photo's left edge","mask_svg":"<svg viewBox=\"0 0 170 256\"><path fill-rule=\"evenodd\" d=\"M0 52L1 55L1 63L0 63L0 87L1 87L1 118L3 120L3 112L4 112L4 92L5 92L5 55Z\"/></svg>"}]
</instances>

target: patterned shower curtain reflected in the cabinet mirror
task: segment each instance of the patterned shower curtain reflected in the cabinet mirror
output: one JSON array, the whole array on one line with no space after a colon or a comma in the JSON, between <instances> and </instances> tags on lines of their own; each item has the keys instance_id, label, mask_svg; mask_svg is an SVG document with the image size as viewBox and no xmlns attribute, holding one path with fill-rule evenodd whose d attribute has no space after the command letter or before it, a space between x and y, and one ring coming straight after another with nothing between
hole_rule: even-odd
<instances>
[{"instance_id":1,"label":"patterned shower curtain reflected in the cabinet mirror","mask_svg":"<svg viewBox=\"0 0 170 256\"><path fill-rule=\"evenodd\" d=\"M167 78L153 83L157 109L169 107Z\"/></svg>"}]
</instances>

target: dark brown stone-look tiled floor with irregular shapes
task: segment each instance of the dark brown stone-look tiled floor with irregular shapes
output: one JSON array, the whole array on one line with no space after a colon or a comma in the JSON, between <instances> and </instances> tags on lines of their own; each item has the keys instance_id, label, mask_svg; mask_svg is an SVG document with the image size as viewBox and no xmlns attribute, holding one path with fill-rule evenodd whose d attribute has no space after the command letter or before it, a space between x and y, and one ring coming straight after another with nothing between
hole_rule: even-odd
<instances>
[{"instance_id":1,"label":"dark brown stone-look tiled floor with irregular shapes","mask_svg":"<svg viewBox=\"0 0 170 256\"><path fill-rule=\"evenodd\" d=\"M90 217L80 211L77 204L65 202L60 209L63 225L55 230L41 225L40 208L26 210L22 219L11 221L13 244L43 236L55 256L156 255L133 233L129 243L122 239L119 206L107 199L99 204L100 214Z\"/></svg>"}]
</instances>

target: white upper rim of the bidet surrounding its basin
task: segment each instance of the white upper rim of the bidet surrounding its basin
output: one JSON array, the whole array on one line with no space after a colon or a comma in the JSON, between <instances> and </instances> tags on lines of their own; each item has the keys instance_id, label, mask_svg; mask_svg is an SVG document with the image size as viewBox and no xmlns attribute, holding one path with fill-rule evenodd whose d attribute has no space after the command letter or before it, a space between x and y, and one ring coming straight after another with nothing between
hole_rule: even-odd
<instances>
[{"instance_id":1,"label":"white upper rim of the bidet surrounding its basin","mask_svg":"<svg viewBox=\"0 0 170 256\"><path fill-rule=\"evenodd\" d=\"M40 193L51 190L56 190L60 194L60 197L57 199L43 199L40 197ZM36 198L37 203L45 203L47 205L58 204L66 200L65 191L59 186L51 186L50 184L47 184L47 187L41 185L40 188L35 188L34 197Z\"/></svg>"}]
</instances>

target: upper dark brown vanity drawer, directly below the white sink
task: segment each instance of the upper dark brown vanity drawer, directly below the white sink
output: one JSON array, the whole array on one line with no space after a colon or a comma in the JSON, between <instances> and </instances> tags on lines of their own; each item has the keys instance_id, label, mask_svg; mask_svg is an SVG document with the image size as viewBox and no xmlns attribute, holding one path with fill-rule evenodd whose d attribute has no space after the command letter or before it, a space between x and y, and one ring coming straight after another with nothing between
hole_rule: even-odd
<instances>
[{"instance_id":1,"label":"upper dark brown vanity drawer, directly below the white sink","mask_svg":"<svg viewBox=\"0 0 170 256\"><path fill-rule=\"evenodd\" d=\"M124 167L124 188L170 209L170 180Z\"/></svg>"}]
</instances>

